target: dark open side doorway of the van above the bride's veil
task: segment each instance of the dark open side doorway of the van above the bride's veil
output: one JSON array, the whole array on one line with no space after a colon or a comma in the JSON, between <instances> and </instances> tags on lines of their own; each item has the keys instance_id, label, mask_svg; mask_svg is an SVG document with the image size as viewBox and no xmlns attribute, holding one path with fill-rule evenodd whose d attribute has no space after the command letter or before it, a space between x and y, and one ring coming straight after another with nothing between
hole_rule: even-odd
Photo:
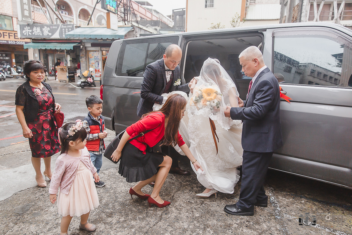
<instances>
[{"instance_id":1,"label":"dark open side doorway of the van above the bride's veil","mask_svg":"<svg viewBox=\"0 0 352 235\"><path fill-rule=\"evenodd\" d=\"M239 62L239 54L252 45L258 47L262 37L232 37L223 39L209 39L190 41L187 43L186 61L183 67L183 77L189 82L194 76L199 76L203 62L208 58L217 58L222 67L235 82L241 99L246 99L248 86L252 78L244 75Z\"/></svg>"}]
</instances>

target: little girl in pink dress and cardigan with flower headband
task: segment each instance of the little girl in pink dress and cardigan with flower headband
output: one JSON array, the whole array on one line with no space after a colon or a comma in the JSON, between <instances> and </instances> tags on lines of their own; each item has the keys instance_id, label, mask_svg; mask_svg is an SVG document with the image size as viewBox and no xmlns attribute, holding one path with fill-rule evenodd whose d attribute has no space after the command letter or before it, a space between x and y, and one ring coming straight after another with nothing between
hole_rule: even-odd
<instances>
[{"instance_id":1,"label":"little girl in pink dress and cardigan with flower headband","mask_svg":"<svg viewBox=\"0 0 352 235\"><path fill-rule=\"evenodd\" d=\"M50 182L50 202L55 203L58 194L58 212L62 215L61 235L68 234L73 216L80 216L80 228L95 231L96 226L87 222L90 210L99 206L95 182L99 182L86 145L87 132L81 120L70 122L59 130L61 155L56 159ZM93 180L93 177L94 180Z\"/></svg>"}]
</instances>

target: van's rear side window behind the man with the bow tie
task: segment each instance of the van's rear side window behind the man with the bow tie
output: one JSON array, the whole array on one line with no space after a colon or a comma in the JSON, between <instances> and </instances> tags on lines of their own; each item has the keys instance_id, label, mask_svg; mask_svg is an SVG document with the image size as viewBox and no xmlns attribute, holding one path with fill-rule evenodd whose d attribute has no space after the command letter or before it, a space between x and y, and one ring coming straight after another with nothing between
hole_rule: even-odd
<instances>
[{"instance_id":1,"label":"van's rear side window behind the man with the bow tie","mask_svg":"<svg viewBox=\"0 0 352 235\"><path fill-rule=\"evenodd\" d=\"M126 40L122 42L116 75L143 77L145 67L164 55L168 45L178 43L178 36Z\"/></svg>"}]
</instances>

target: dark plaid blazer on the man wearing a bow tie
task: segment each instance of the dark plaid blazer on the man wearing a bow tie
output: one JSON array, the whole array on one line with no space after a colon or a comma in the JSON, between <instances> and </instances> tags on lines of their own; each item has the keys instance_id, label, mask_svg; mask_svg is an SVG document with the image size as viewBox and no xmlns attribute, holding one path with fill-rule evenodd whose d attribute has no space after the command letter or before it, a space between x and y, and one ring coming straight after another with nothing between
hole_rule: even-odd
<instances>
[{"instance_id":1,"label":"dark plaid blazer on the man wearing a bow tie","mask_svg":"<svg viewBox=\"0 0 352 235\"><path fill-rule=\"evenodd\" d=\"M180 79L180 66L177 66L173 71L172 83ZM145 113L153 111L154 103L162 104L163 97L161 94L165 91L167 80L165 74L164 59L157 60L148 64L143 74L142 87L140 88L140 100L137 107L138 117L142 117ZM171 86L171 91L189 92L188 83L178 86Z\"/></svg>"}]
</instances>

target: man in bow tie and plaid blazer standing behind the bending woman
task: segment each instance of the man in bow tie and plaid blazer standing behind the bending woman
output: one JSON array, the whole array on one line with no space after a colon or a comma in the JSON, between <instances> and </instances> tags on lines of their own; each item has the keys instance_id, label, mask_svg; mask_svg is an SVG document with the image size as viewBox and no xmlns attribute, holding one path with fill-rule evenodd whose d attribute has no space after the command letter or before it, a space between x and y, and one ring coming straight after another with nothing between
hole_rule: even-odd
<instances>
[{"instance_id":1,"label":"man in bow tie and plaid blazer standing behind the bending woman","mask_svg":"<svg viewBox=\"0 0 352 235\"><path fill-rule=\"evenodd\" d=\"M143 74L142 87L140 89L140 100L137 107L137 115L142 117L145 113L153 111L153 105L164 104L166 97L161 94L171 91L189 92L194 78L187 84L180 79L180 66L182 50L176 44L171 44L165 49L161 60L148 64ZM166 151L163 148L163 151ZM169 147L165 154L172 158L171 173L189 175L189 171L178 167L177 156L180 155L173 147Z\"/></svg>"}]
</instances>

